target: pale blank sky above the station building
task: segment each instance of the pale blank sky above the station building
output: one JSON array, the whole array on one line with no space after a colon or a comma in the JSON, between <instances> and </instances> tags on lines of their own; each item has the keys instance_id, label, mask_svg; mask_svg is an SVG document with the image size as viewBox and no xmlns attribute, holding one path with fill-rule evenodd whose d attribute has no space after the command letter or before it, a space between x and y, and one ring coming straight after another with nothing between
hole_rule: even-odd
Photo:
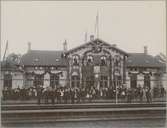
<instances>
[{"instance_id":1,"label":"pale blank sky above the station building","mask_svg":"<svg viewBox=\"0 0 167 128\"><path fill-rule=\"evenodd\" d=\"M166 54L165 1L1 1L1 55L79 46L87 32L126 52Z\"/></svg>"}]
</instances>

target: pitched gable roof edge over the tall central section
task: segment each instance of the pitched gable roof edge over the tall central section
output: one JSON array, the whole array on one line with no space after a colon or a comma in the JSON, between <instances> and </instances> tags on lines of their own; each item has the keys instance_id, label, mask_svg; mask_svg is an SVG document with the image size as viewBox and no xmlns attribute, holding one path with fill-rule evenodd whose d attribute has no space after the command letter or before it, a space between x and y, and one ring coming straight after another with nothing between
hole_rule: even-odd
<instances>
[{"instance_id":1,"label":"pitched gable roof edge over the tall central section","mask_svg":"<svg viewBox=\"0 0 167 128\"><path fill-rule=\"evenodd\" d=\"M115 47L115 46L113 46L113 45L111 45L111 44L109 44L109 43L107 43L107 42L105 42L105 41L99 39L99 38L96 38L96 39L94 39L93 41L89 41L89 42L87 42L87 43L84 43L84 44L82 44L82 45L80 45L80 46L78 46L78 47L75 47L75 48L73 48L73 49L70 49L70 50L68 50L68 51L66 52L66 54L69 54L69 53L71 53L71 52L73 52L73 51L75 51L75 50L77 50L77 49L84 48L84 47L86 47L87 45L89 45L89 44L91 44L91 43L95 43L95 42L97 42L97 41L102 42L102 43L103 43L104 45L106 45L107 47L109 47L109 48L111 48L111 49L114 49L114 50L117 50L117 51L119 51L120 53L123 53L123 54L125 54L125 55L128 56L128 53L127 53L127 52L125 52L125 51L123 51L122 49L119 49L119 48L117 48L117 47Z\"/></svg>"}]
</instances>

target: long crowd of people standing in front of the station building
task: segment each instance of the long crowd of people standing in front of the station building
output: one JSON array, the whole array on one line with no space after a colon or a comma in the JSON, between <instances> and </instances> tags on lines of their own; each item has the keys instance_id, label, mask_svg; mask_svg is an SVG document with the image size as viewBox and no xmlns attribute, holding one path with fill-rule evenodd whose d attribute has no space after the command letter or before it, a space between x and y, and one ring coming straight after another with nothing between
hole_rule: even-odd
<instances>
[{"instance_id":1,"label":"long crowd of people standing in front of the station building","mask_svg":"<svg viewBox=\"0 0 167 128\"><path fill-rule=\"evenodd\" d=\"M162 91L161 91L162 90ZM46 87L36 86L29 88L3 89L3 100L31 100L37 99L37 103L84 103L92 102L99 99L115 100L120 102L152 102L152 98L165 95L164 88L157 91L157 88L150 89L149 87L126 88L119 86L114 87ZM163 94L162 94L163 93Z\"/></svg>"}]
</instances>

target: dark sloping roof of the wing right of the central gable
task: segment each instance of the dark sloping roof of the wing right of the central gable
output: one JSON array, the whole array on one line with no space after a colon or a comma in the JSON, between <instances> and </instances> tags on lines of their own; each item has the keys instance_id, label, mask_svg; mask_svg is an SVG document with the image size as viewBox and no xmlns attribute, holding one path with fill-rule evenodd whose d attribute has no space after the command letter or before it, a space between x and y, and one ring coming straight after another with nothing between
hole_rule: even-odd
<instances>
[{"instance_id":1,"label":"dark sloping roof of the wing right of the central gable","mask_svg":"<svg viewBox=\"0 0 167 128\"><path fill-rule=\"evenodd\" d=\"M161 63L152 55L145 53L130 53L127 60L127 67L165 67L165 63Z\"/></svg>"}]
</instances>

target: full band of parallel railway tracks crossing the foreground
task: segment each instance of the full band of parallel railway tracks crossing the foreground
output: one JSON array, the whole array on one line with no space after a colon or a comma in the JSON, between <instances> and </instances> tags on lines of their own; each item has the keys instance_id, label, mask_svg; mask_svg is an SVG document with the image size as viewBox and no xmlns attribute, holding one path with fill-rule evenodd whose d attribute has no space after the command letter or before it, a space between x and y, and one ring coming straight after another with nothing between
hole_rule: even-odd
<instances>
[{"instance_id":1,"label":"full band of parallel railway tracks crossing the foreground","mask_svg":"<svg viewBox=\"0 0 167 128\"><path fill-rule=\"evenodd\" d=\"M2 105L2 124L123 120L123 119L165 119L166 104L56 104L56 105Z\"/></svg>"}]
</instances>

